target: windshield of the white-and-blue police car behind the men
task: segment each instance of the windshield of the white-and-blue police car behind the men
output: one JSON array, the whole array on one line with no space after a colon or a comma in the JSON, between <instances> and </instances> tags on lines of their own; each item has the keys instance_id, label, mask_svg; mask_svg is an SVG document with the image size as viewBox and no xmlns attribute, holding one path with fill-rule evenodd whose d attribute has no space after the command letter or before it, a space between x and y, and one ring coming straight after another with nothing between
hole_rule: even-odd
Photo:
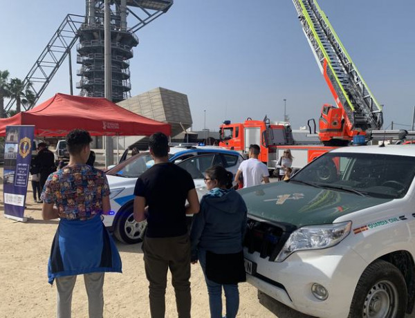
<instances>
[{"instance_id":1,"label":"windshield of the white-and-blue police car behind the men","mask_svg":"<svg viewBox=\"0 0 415 318\"><path fill-rule=\"evenodd\" d=\"M169 153L169 158L173 155ZM136 156L133 156L116 167L113 167L107 171L107 174L112 176L124 176L126 178L138 178L141 174L147 169L151 168L154 165L154 160L151 157L150 153L141 152Z\"/></svg>"}]
</instances>

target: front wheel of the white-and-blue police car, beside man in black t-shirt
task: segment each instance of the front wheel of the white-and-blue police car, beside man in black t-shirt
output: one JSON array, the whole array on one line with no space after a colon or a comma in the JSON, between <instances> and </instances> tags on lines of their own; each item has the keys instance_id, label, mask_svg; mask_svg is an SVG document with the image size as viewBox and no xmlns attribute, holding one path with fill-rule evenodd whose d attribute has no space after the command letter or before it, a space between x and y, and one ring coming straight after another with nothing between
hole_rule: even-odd
<instances>
[{"instance_id":1,"label":"front wheel of the white-and-blue police car, beside man in black t-shirt","mask_svg":"<svg viewBox=\"0 0 415 318\"><path fill-rule=\"evenodd\" d=\"M116 229L114 231L114 235L121 241L122 243L126 244L135 244L140 243L142 238L140 234L142 230L145 229L147 222L136 222L133 217L133 209L126 209L121 212L120 218L118 218Z\"/></svg>"}]
</instances>

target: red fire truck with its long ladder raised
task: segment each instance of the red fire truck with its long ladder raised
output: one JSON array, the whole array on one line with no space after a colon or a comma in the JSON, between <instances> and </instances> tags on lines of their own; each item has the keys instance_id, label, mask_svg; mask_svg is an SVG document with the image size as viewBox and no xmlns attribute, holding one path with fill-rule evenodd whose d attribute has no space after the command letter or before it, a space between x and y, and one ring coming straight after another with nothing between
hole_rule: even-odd
<instances>
[{"instance_id":1,"label":"red fire truck with its long ladder raised","mask_svg":"<svg viewBox=\"0 0 415 318\"><path fill-rule=\"evenodd\" d=\"M221 125L222 147L246 152L249 144L259 144L261 161L273 169L281 149L291 149L295 167L316 156L346 146L353 139L365 142L372 130L382 127L382 107L369 91L356 65L315 0L293 0L304 35L317 65L326 79L335 105L324 104L319 120L320 146L296 144L287 123L246 120ZM358 136L358 138L356 138Z\"/></svg>"}]
</instances>

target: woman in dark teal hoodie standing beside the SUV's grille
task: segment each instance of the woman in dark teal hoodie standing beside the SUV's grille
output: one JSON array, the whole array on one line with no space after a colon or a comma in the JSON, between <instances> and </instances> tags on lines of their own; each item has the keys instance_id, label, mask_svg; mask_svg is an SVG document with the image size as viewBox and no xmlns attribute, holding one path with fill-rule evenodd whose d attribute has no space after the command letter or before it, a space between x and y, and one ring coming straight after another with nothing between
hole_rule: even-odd
<instances>
[{"instance_id":1,"label":"woman in dark teal hoodie standing beside the SUV's grille","mask_svg":"<svg viewBox=\"0 0 415 318\"><path fill-rule=\"evenodd\" d=\"M239 308L238 282L245 281L243 236L246 205L232 187L232 173L214 166L205 171L208 194L194 216L190 239L192 263L199 260L209 293L210 317L222 318L222 288L226 316L234 318Z\"/></svg>"}]
</instances>

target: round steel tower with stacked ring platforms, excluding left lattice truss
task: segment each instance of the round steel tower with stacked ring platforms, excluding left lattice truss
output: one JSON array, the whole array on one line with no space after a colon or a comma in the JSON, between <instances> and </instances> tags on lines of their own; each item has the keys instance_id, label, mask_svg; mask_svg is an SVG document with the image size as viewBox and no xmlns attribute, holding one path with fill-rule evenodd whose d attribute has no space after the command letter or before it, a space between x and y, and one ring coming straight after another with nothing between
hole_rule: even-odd
<instances>
[{"instance_id":1,"label":"round steel tower with stacked ring platforms, excluding left lattice truss","mask_svg":"<svg viewBox=\"0 0 415 318\"><path fill-rule=\"evenodd\" d=\"M113 102L131 97L129 59L133 47L138 45L134 32L149 21L169 10L173 1L111 1L111 77ZM140 17L134 9L140 9ZM153 12L151 13L150 10ZM127 15L138 19L138 24L127 28ZM81 76L77 88L80 95L104 97L104 0L86 0L86 19L78 30L77 63L82 64L77 75Z\"/></svg>"}]
</instances>

